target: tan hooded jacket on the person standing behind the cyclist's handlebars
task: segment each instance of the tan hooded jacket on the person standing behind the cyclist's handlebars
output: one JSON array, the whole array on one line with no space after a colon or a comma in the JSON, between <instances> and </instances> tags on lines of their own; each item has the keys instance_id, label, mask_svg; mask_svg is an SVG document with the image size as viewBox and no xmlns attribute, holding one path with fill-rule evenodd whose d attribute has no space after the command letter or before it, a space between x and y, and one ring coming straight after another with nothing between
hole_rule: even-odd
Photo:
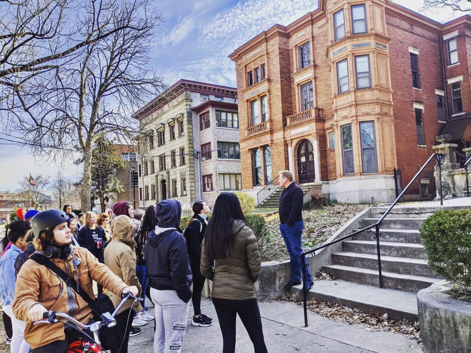
<instances>
[{"instance_id":1,"label":"tan hooded jacket on the person standing behind the cyclist's handlebars","mask_svg":"<svg viewBox=\"0 0 471 353\"><path fill-rule=\"evenodd\" d=\"M138 297L141 296L141 285L136 276L136 242L132 238L132 228L134 227L134 222L131 218L125 215L116 217L113 220L113 225L111 226L113 232L113 240L108 243L105 248L105 264L109 267L113 273L120 277L128 285L136 286L139 290ZM121 302L121 298L114 293L106 293L111 301L113 302L114 307L117 307ZM123 312L126 309L129 309L132 305L131 301L127 301L121 306L118 311L118 314ZM142 310L142 305L136 303L134 305L134 310L139 312Z\"/></svg>"}]
</instances>

